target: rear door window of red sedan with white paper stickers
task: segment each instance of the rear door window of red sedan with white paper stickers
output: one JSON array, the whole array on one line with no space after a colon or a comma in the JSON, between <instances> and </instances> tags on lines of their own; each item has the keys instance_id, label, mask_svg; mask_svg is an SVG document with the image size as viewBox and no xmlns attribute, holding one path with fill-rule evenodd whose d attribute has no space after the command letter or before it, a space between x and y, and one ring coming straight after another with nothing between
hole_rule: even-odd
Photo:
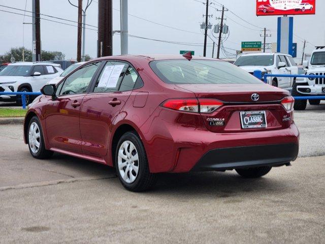
<instances>
[{"instance_id":1,"label":"rear door window of red sedan with white paper stickers","mask_svg":"<svg viewBox=\"0 0 325 244\"><path fill-rule=\"evenodd\" d=\"M94 93L112 93L119 90L128 65L122 62L108 61L95 83Z\"/></svg>"}]
</instances>

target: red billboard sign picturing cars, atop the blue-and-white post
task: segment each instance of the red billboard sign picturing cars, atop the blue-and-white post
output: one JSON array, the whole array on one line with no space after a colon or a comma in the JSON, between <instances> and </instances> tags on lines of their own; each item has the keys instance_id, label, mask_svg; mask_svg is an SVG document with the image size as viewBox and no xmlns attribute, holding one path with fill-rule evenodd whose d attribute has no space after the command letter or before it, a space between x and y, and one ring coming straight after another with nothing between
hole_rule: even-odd
<instances>
[{"instance_id":1,"label":"red billboard sign picturing cars, atop the blue-and-white post","mask_svg":"<svg viewBox=\"0 0 325 244\"><path fill-rule=\"evenodd\" d=\"M315 14L316 0L256 0L256 15Z\"/></svg>"}]
</instances>

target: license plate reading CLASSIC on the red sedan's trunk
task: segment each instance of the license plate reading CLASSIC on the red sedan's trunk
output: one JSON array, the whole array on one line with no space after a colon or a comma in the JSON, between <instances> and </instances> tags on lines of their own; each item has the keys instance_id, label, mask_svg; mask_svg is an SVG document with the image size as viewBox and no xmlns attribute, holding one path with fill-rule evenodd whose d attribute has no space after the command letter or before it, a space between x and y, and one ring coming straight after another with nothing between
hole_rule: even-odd
<instances>
[{"instance_id":1,"label":"license plate reading CLASSIC on the red sedan's trunk","mask_svg":"<svg viewBox=\"0 0 325 244\"><path fill-rule=\"evenodd\" d=\"M240 121L243 129L267 128L265 111L240 112Z\"/></svg>"}]
</instances>

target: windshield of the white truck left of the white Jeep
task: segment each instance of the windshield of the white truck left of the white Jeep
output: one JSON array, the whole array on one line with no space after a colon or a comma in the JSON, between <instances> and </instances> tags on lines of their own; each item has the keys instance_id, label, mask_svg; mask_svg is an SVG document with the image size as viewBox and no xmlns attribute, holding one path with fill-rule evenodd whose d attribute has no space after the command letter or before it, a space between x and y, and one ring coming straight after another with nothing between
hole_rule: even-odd
<instances>
[{"instance_id":1,"label":"windshield of the white truck left of the white Jeep","mask_svg":"<svg viewBox=\"0 0 325 244\"><path fill-rule=\"evenodd\" d=\"M274 64L273 55L249 55L239 57L234 65L237 66L271 66Z\"/></svg>"}]
</instances>

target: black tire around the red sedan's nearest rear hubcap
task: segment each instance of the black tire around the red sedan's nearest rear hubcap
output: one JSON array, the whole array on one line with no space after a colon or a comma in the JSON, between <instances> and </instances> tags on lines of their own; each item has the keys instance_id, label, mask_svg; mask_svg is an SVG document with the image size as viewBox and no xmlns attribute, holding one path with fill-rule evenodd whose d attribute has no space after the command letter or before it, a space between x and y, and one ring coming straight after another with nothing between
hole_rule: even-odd
<instances>
[{"instance_id":1,"label":"black tire around the red sedan's nearest rear hubcap","mask_svg":"<svg viewBox=\"0 0 325 244\"><path fill-rule=\"evenodd\" d=\"M124 141L131 141L135 145L136 150L138 152L138 158L139 158L138 174L136 176L136 179L131 183L126 182L122 178L118 167L119 148L121 147ZM154 186L157 179L156 174L152 174L149 171L149 164L148 164L145 148L143 146L141 139L139 138L138 134L135 131L126 132L124 135L122 135L122 137L118 141L116 147L116 153L115 153L115 168L116 168L116 173L118 175L118 178L120 179L123 187L128 191L142 192L142 191L149 190Z\"/></svg>"}]
</instances>

